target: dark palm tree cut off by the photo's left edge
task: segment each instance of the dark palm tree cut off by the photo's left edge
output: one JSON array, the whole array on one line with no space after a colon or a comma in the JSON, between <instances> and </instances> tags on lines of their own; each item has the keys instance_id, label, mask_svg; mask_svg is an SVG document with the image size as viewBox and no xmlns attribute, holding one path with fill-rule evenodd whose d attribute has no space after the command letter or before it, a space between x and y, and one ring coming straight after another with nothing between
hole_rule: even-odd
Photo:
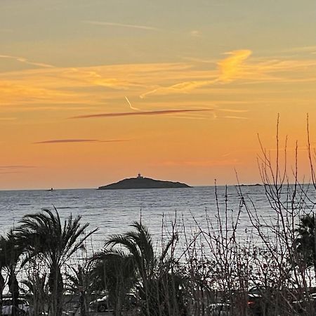
<instances>
[{"instance_id":1,"label":"dark palm tree cut off by the photo's left edge","mask_svg":"<svg viewBox=\"0 0 316 316\"><path fill-rule=\"evenodd\" d=\"M7 237L0 237L0 265L1 270L6 270L8 275L8 289L12 296L13 310L12 315L15 316L18 313L18 298L20 294L20 288L18 285L18 279L16 277L17 267L20 260L20 256L23 253L23 246L15 238L12 231L8 232ZM5 282L4 277L0 277L1 286L1 298L4 290Z\"/></svg>"}]
</instances>

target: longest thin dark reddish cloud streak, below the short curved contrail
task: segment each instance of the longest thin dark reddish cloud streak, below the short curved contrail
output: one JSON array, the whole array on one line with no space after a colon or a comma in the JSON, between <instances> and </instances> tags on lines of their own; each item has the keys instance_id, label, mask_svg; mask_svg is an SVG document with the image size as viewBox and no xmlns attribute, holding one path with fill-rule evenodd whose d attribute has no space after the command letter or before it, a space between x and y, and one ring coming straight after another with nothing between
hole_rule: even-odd
<instances>
[{"instance_id":1,"label":"longest thin dark reddish cloud streak, below the short curved contrail","mask_svg":"<svg viewBox=\"0 0 316 316\"><path fill-rule=\"evenodd\" d=\"M90 119L93 117L130 117L138 115L166 115L178 114L189 112L206 112L213 111L213 109L184 109L184 110L157 110L157 111L143 111L143 112L113 112L113 113L100 113L100 114L86 114L77 117L69 117L69 119Z\"/></svg>"}]
</instances>

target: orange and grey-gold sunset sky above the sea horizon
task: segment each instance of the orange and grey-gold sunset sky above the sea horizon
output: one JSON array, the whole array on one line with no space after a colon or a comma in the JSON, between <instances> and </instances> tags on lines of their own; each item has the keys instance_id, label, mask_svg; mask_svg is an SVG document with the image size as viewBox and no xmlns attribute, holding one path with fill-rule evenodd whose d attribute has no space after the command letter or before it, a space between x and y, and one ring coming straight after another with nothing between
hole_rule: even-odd
<instances>
[{"instance_id":1,"label":"orange and grey-gold sunset sky above the sea horizon","mask_svg":"<svg viewBox=\"0 0 316 316\"><path fill-rule=\"evenodd\" d=\"M0 43L0 190L261 183L278 115L308 180L315 0L0 0Z\"/></svg>"}]
</instances>

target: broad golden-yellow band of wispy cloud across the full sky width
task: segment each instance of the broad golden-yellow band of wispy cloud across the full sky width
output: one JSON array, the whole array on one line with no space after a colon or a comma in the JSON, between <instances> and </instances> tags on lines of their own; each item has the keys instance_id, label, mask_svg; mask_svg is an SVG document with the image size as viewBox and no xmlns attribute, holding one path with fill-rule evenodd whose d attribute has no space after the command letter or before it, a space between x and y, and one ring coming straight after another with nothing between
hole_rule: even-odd
<instances>
[{"instance_id":1,"label":"broad golden-yellow band of wispy cloud across the full sky width","mask_svg":"<svg viewBox=\"0 0 316 316\"><path fill-rule=\"evenodd\" d=\"M283 94L282 98L277 98L274 102L285 103L287 100L291 101L286 91L290 87L294 91L297 90L295 83L310 82L312 84L316 81L315 58L271 59L251 57L249 54L250 51L247 50L230 52L223 60L216 62L210 59L203 65L198 60L190 60L190 62L98 65L77 68L37 67L0 72L1 105L3 105L1 116L15 117L16 114L13 113L32 109L35 111L55 110L60 118L72 117L77 113L79 115L128 112L124 110L129 105L127 100L124 100L124 96L128 96L130 100L129 107L142 109L139 112L159 109L162 101L166 108L173 109L189 109L192 106L192 100L197 100L195 107L200 108L213 108L213 104L224 108L226 105L227 107L238 105L240 108L239 104L242 106L246 103L266 103L266 98L263 100L263 98L254 99L245 96L265 93L268 97L268 93L275 91L276 84L282 84L278 87L278 91L280 96L281 92ZM273 83L273 85L260 86L259 90L250 86L261 83ZM289 86L285 88L284 84L289 84ZM195 93L195 96L185 98L185 93ZM150 103L139 99L139 96L173 94L179 98L164 98L163 100L150 98ZM301 103L310 102L308 97L300 98L300 100ZM46 119L50 119L49 116Z\"/></svg>"}]
</instances>

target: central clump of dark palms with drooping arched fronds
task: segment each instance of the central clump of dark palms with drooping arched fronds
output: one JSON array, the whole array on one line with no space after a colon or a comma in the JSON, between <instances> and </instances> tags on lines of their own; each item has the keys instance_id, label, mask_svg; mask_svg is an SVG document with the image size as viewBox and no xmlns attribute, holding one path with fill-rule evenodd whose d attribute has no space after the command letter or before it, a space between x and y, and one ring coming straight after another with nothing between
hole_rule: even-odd
<instances>
[{"instance_id":1,"label":"central clump of dark palms with drooping arched fronds","mask_svg":"<svg viewBox=\"0 0 316 316\"><path fill-rule=\"evenodd\" d=\"M93 257L95 270L107 280L114 312L121 315L124 300L131 289L138 292L141 315L184 315L180 295L182 277L173 271L169 250L177 240L171 237L160 256L155 254L152 237L141 223L131 225L135 231L114 235L105 242L105 249ZM120 246L119 249L115 246ZM122 295L123 294L123 295Z\"/></svg>"}]
</instances>

